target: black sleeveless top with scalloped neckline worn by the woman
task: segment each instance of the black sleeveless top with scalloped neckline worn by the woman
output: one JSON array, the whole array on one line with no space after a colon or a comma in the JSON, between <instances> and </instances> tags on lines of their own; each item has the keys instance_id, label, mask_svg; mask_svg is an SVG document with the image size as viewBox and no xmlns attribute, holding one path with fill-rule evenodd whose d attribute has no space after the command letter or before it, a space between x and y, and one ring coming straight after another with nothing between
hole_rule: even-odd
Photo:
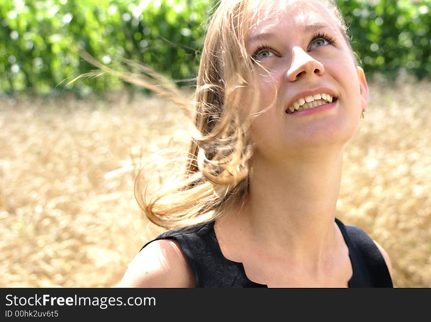
<instances>
[{"instance_id":1,"label":"black sleeveless top with scalloped neckline worn by the woman","mask_svg":"<svg viewBox=\"0 0 431 322\"><path fill-rule=\"evenodd\" d=\"M344 225L335 218L349 249L353 275L349 287L393 287L388 268L374 241L362 229ZM242 263L223 256L214 231L214 221L177 228L157 236L174 239L180 245L196 276L196 287L267 287L251 281ZM142 247L142 248L144 248Z\"/></svg>"}]
</instances>

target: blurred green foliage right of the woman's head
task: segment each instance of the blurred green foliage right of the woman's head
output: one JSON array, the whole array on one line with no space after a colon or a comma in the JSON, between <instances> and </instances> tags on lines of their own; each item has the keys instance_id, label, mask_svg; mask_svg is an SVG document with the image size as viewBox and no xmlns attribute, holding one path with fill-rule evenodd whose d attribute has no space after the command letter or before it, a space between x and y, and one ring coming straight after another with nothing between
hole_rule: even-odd
<instances>
[{"instance_id":1,"label":"blurred green foliage right of the woman's head","mask_svg":"<svg viewBox=\"0 0 431 322\"><path fill-rule=\"evenodd\" d=\"M431 74L431 0L338 0L367 75Z\"/></svg>"}]
</instances>

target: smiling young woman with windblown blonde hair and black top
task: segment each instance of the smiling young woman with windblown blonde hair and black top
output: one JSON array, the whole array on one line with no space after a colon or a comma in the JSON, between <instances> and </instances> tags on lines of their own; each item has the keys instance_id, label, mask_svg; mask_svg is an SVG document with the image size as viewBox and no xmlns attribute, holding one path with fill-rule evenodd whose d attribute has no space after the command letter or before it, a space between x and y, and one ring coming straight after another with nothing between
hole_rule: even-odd
<instances>
[{"instance_id":1,"label":"smiling young woman with windblown blonde hair and black top","mask_svg":"<svg viewBox=\"0 0 431 322\"><path fill-rule=\"evenodd\" d=\"M346 29L333 1L221 0L182 180L150 201L136 185L171 230L119 287L392 287L383 248L335 218L368 97Z\"/></svg>"}]
</instances>

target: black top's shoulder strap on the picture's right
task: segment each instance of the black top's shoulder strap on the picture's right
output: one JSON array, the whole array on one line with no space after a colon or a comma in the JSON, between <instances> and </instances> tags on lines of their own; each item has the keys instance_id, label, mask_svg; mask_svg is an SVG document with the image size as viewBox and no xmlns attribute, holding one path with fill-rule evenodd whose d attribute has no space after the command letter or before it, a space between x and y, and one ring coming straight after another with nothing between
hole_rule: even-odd
<instances>
[{"instance_id":1,"label":"black top's shoulder strap on the picture's right","mask_svg":"<svg viewBox=\"0 0 431 322\"><path fill-rule=\"evenodd\" d=\"M335 220L340 222L338 219ZM352 247L359 251L363 258L363 262L370 271L369 277L371 279L371 284L374 287L393 287L386 262L373 239L357 226L344 225L342 223L341 226L344 227L345 232L352 243Z\"/></svg>"}]
</instances>

